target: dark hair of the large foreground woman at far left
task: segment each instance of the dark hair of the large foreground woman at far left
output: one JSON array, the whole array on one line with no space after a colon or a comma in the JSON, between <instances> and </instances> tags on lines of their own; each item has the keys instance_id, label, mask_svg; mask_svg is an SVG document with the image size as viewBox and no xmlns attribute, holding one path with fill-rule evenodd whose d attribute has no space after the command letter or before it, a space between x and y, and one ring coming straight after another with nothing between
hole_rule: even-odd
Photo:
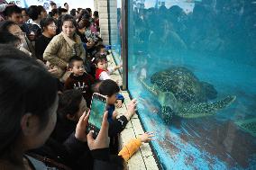
<instances>
[{"instance_id":1,"label":"dark hair of the large foreground woman at far left","mask_svg":"<svg viewBox=\"0 0 256 170\"><path fill-rule=\"evenodd\" d=\"M56 100L57 84L44 67L19 49L0 45L0 51L0 157L16 164L12 156L21 137L23 115L37 116L43 130Z\"/></svg>"}]
</instances>

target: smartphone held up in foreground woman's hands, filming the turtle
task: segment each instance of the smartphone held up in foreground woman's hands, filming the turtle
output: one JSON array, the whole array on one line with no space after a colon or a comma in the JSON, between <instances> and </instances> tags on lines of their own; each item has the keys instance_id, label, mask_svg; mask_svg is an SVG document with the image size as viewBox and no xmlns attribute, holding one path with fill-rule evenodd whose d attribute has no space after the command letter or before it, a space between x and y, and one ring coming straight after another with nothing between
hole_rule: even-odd
<instances>
[{"instance_id":1,"label":"smartphone held up in foreground woman's hands, filming the turtle","mask_svg":"<svg viewBox=\"0 0 256 170\"><path fill-rule=\"evenodd\" d=\"M106 110L106 100L107 98L102 94L93 94L87 131L94 130L94 138L101 129L103 115Z\"/></svg>"}]
</instances>

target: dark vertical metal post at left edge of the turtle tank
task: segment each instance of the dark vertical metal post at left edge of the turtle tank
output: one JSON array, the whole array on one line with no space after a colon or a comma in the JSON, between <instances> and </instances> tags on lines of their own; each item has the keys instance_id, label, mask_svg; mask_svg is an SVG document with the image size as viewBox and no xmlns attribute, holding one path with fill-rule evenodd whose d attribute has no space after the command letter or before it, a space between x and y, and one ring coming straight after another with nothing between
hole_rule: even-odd
<instances>
[{"instance_id":1,"label":"dark vertical metal post at left edge of the turtle tank","mask_svg":"<svg viewBox=\"0 0 256 170\"><path fill-rule=\"evenodd\" d=\"M122 0L121 56L123 59L123 90L128 89L128 0Z\"/></svg>"}]
</instances>

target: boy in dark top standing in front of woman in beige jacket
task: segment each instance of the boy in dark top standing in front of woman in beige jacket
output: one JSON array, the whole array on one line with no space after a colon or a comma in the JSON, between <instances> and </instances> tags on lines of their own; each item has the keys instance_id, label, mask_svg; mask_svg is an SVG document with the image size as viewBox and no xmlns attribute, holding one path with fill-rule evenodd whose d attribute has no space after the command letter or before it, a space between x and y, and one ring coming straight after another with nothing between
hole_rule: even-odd
<instances>
[{"instance_id":1,"label":"boy in dark top standing in front of woman in beige jacket","mask_svg":"<svg viewBox=\"0 0 256 170\"><path fill-rule=\"evenodd\" d=\"M78 56L70 58L69 70L71 71L71 74L65 82L64 90L81 90L87 101L87 107L90 107L92 98L91 85L94 84L95 80L92 76L86 73L83 59Z\"/></svg>"}]
</instances>

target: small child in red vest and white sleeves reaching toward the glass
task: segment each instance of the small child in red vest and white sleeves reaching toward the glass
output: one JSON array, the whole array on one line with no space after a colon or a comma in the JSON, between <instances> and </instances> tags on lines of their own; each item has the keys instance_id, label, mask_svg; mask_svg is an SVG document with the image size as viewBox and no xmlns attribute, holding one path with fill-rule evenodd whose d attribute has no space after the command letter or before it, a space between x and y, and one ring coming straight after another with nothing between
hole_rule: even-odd
<instances>
[{"instance_id":1,"label":"small child in red vest and white sleeves reaching toward the glass","mask_svg":"<svg viewBox=\"0 0 256 170\"><path fill-rule=\"evenodd\" d=\"M96 80L111 79L110 73L113 73L115 70L121 68L121 66L109 68L105 54L97 54L94 62L96 64Z\"/></svg>"}]
</instances>

